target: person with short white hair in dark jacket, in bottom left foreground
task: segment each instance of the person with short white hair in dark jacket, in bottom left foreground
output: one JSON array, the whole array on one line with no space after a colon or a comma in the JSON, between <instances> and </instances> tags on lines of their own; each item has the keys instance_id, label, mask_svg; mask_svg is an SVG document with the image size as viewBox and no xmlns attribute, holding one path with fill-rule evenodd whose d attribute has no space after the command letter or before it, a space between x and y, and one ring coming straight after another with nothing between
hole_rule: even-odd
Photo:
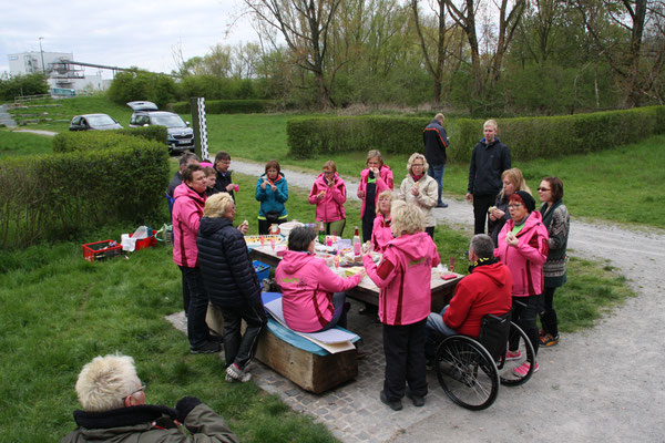
<instances>
[{"instance_id":1,"label":"person with short white hair in dark jacket, in bottom left foreground","mask_svg":"<svg viewBox=\"0 0 665 443\"><path fill-rule=\"evenodd\" d=\"M75 390L83 410L74 411L78 427L62 443L238 442L201 400L185 396L175 408L146 404L145 388L133 358L95 357L79 373Z\"/></svg>"}]
</instances>

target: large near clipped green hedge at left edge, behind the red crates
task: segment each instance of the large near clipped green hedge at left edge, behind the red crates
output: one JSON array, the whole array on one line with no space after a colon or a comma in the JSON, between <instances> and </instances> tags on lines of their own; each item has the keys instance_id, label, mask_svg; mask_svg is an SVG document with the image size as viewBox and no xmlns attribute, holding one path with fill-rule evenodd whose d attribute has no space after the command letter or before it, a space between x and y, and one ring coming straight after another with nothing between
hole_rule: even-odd
<instances>
[{"instance_id":1,"label":"large near clipped green hedge at left edge, behind the red crates","mask_svg":"<svg viewBox=\"0 0 665 443\"><path fill-rule=\"evenodd\" d=\"M84 148L0 161L0 248L71 239L119 222L135 227L158 216L168 183L164 145L100 134L122 141L92 145L88 134L75 134Z\"/></svg>"}]
</instances>

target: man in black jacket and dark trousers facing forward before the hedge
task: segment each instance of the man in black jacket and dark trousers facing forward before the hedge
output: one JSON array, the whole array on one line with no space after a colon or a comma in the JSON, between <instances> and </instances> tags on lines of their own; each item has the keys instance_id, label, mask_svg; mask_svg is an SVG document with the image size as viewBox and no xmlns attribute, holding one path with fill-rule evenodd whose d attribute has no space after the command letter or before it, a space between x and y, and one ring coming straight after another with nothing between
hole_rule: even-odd
<instances>
[{"instance_id":1,"label":"man in black jacket and dark trousers facing forward before the hedge","mask_svg":"<svg viewBox=\"0 0 665 443\"><path fill-rule=\"evenodd\" d=\"M510 169L510 151L499 137L497 122L488 120L482 138L471 154L467 199L473 202L473 234L484 234L488 209L501 190L501 174ZM489 230L489 229L488 229Z\"/></svg>"}]
</instances>

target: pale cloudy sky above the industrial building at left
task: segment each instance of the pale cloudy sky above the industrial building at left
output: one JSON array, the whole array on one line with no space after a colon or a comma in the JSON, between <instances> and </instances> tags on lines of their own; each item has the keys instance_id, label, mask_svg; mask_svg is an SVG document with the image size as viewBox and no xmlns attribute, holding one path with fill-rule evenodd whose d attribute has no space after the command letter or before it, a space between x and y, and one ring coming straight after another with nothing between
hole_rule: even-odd
<instances>
[{"instance_id":1,"label":"pale cloudy sky above the industrial building at left","mask_svg":"<svg viewBox=\"0 0 665 443\"><path fill-rule=\"evenodd\" d=\"M0 74L9 72L8 54L39 51L40 37L44 52L73 52L74 61L168 73L178 44L186 60L216 43L257 41L244 18L226 33L242 7L242 0L6 1Z\"/></svg>"}]
</instances>

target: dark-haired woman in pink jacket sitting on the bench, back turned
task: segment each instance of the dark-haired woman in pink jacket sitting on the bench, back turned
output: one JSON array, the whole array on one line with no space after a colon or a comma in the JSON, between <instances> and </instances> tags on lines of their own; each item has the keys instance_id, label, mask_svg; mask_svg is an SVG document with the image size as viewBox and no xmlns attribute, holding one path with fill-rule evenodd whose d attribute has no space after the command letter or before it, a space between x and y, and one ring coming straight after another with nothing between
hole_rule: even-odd
<instances>
[{"instance_id":1,"label":"dark-haired woman in pink jacket sitting on the bench, back turned","mask_svg":"<svg viewBox=\"0 0 665 443\"><path fill-rule=\"evenodd\" d=\"M358 286L365 272L341 278L314 255L316 233L306 226L288 236L288 250L275 270L282 288L282 309L286 324L294 331L320 332L339 324L346 327L346 296Z\"/></svg>"}]
</instances>

